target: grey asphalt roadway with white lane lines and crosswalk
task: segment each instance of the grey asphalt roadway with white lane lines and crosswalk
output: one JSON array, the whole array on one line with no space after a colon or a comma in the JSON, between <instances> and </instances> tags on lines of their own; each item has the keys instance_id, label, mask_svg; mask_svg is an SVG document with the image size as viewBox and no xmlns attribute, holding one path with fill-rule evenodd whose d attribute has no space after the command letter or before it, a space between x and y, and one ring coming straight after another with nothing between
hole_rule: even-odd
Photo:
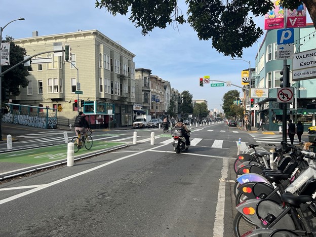
<instances>
[{"instance_id":1,"label":"grey asphalt roadway with white lane lines and crosswalk","mask_svg":"<svg viewBox=\"0 0 316 237\"><path fill-rule=\"evenodd\" d=\"M223 123L196 127L189 150L176 154L170 135L137 130L142 138L152 131L161 135L154 145L129 144L73 167L3 181L0 205L8 224L1 235L230 236L230 166L238 138L251 137Z\"/></svg>"}]
</instances>

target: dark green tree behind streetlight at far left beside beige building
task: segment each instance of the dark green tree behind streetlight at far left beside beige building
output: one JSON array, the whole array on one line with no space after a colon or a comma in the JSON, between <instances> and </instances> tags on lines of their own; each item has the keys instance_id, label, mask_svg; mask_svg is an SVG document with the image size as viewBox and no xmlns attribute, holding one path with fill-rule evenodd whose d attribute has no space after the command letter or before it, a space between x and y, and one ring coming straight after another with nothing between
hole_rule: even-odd
<instances>
[{"instance_id":1,"label":"dark green tree behind streetlight at far left beside beige building","mask_svg":"<svg viewBox=\"0 0 316 237\"><path fill-rule=\"evenodd\" d=\"M5 41L10 42L10 65L2 66L2 72L6 71L10 67L18 64L24 60L26 56L26 50L20 46L15 45L11 36L7 36ZM13 70L5 73L2 76L2 102L8 102L6 100L6 89L14 96L20 95L20 86L25 88L28 86L28 80L26 76L29 75L30 67L24 67L23 64L17 66Z\"/></svg>"}]
</instances>

